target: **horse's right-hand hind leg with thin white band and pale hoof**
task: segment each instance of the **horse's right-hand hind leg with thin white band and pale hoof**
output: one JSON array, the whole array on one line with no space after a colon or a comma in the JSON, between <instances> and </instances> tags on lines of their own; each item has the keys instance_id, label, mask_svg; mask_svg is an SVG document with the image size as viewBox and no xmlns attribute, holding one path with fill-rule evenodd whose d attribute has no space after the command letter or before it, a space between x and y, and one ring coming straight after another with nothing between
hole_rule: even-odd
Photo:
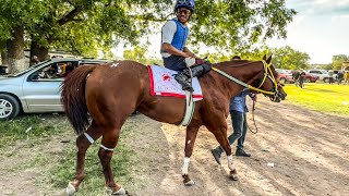
<instances>
[{"instance_id":1,"label":"horse's right-hand hind leg with thin white band and pale hoof","mask_svg":"<svg viewBox=\"0 0 349 196\"><path fill-rule=\"evenodd\" d=\"M103 135L101 145L98 151L98 157L103 167L103 172L106 179L106 186L111 188L112 195L124 195L125 191L113 181L113 175L110 167L110 161L113 154L113 148L119 140L121 126L118 128L106 130Z\"/></svg>"}]
</instances>

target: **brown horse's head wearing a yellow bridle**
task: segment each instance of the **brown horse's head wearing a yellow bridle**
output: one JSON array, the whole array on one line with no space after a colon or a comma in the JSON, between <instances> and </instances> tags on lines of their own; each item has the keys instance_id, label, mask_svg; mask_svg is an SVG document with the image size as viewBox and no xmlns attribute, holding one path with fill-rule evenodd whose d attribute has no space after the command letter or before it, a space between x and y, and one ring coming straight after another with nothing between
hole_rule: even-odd
<instances>
[{"instance_id":1,"label":"brown horse's head wearing a yellow bridle","mask_svg":"<svg viewBox=\"0 0 349 196\"><path fill-rule=\"evenodd\" d=\"M272 56L267 59L266 56L262 60L264 66L264 74L260 78L257 86L258 89L262 89L262 94L268 96L272 101L280 102L285 100L287 94L284 90L284 84L277 79L277 72L272 65ZM260 91L256 89L256 91Z\"/></svg>"}]
</instances>

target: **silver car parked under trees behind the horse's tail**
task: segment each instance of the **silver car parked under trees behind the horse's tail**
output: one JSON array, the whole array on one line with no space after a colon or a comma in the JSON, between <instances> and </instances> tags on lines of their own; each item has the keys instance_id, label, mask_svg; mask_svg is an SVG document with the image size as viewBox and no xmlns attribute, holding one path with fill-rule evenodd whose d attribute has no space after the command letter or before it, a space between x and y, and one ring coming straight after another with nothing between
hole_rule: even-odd
<instances>
[{"instance_id":1,"label":"silver car parked under trees behind the horse's tail","mask_svg":"<svg viewBox=\"0 0 349 196\"><path fill-rule=\"evenodd\" d=\"M51 59L14 75L0 77L0 120L24 113L62 112L60 85L70 71L108 60Z\"/></svg>"}]
</instances>

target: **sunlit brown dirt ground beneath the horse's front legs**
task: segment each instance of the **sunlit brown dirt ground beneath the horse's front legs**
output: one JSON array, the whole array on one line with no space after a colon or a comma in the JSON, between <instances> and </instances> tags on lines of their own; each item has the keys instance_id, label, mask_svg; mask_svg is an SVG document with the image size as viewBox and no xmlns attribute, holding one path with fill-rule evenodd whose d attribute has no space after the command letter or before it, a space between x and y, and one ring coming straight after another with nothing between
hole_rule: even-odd
<instances>
[{"instance_id":1,"label":"sunlit brown dirt ground beneath the horse's front legs","mask_svg":"<svg viewBox=\"0 0 349 196\"><path fill-rule=\"evenodd\" d=\"M251 113L248 117L254 130ZM163 124L142 114L129 121L142 127L134 130L132 145L142 160L139 171L143 172L133 175L146 182L130 188L130 195L349 195L348 118L262 98L255 111L258 133L249 132L245 142L245 150L252 157L234 157L240 180L228 179L226 156L221 167L215 162L209 149L217 142L202 127L189 168L195 182L190 187L183 186L181 177L185 127ZM231 132L230 120L228 124ZM21 146L13 150L21 150ZM0 195L46 195L35 184L37 169L21 175L7 170L10 164L21 164L20 157L23 156L0 160Z\"/></svg>"}]
</instances>

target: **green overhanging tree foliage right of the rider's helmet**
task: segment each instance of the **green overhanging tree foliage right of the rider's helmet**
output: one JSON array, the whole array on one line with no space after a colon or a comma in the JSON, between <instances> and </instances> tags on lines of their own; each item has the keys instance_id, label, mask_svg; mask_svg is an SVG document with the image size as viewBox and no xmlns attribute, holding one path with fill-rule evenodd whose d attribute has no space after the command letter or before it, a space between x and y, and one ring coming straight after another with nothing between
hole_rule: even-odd
<instances>
[{"instance_id":1,"label":"green overhanging tree foliage right of the rider's helmet","mask_svg":"<svg viewBox=\"0 0 349 196\"><path fill-rule=\"evenodd\" d=\"M196 1L192 42L230 52L250 49L274 36L285 38L285 27L294 14L285 8L285 0Z\"/></svg>"}]
</instances>

